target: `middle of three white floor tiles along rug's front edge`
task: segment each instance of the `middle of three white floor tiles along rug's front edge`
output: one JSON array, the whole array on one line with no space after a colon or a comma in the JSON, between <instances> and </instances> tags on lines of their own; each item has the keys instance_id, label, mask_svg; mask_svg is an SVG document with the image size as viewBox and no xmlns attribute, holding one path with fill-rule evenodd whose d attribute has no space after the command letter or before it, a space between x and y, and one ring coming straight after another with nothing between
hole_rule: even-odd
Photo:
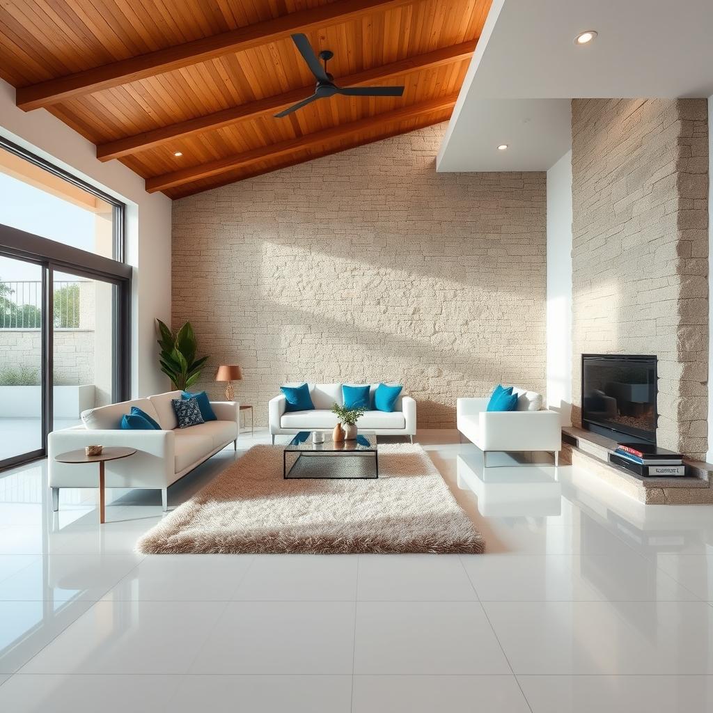
<instances>
[{"instance_id":1,"label":"middle of three white floor tiles along rug's front edge","mask_svg":"<svg viewBox=\"0 0 713 713\"><path fill-rule=\"evenodd\" d=\"M255 555L237 600L354 601L357 555Z\"/></svg>"}]
</instances>

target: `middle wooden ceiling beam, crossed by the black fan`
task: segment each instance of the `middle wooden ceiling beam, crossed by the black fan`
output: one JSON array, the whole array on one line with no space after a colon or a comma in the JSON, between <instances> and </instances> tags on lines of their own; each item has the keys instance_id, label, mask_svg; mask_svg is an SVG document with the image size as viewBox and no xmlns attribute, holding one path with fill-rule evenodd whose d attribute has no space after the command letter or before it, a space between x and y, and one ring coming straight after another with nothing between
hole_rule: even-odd
<instances>
[{"instance_id":1,"label":"middle wooden ceiling beam, crossed by the black fan","mask_svg":"<svg viewBox=\"0 0 713 713\"><path fill-rule=\"evenodd\" d=\"M381 67L367 69L351 76L340 77L336 81L341 86L364 86L371 82L384 81L407 72L433 69L466 60L471 57L475 48L476 40L463 42L451 47L437 49L434 52L392 62ZM127 136L126 138L108 141L97 146L96 155L99 160L108 161L112 158L121 158L122 156L156 148L181 138L219 129L240 121L271 116L277 111L281 111L304 99L312 90L312 85L301 87L283 94L224 109L223 111L179 121L175 124L169 124L168 126L162 126L144 133Z\"/></svg>"}]
</instances>

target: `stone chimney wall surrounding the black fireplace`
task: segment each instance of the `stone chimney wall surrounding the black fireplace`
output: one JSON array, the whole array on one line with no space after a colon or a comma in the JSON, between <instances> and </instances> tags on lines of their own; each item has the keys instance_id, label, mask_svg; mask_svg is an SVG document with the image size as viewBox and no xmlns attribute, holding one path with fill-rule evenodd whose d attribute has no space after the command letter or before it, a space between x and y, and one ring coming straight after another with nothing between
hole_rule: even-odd
<instances>
[{"instance_id":1,"label":"stone chimney wall surrounding the black fireplace","mask_svg":"<svg viewBox=\"0 0 713 713\"><path fill-rule=\"evenodd\" d=\"M573 422L581 355L656 354L657 441L707 449L705 100L572 103Z\"/></svg>"}]
</instances>

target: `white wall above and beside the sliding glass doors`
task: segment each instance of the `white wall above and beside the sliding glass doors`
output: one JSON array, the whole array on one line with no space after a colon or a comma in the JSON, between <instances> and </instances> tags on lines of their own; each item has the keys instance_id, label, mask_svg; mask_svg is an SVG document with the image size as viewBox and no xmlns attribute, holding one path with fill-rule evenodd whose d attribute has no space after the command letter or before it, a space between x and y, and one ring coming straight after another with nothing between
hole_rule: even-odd
<instances>
[{"instance_id":1,"label":"white wall above and beside the sliding glass doors","mask_svg":"<svg viewBox=\"0 0 713 713\"><path fill-rule=\"evenodd\" d=\"M101 163L96 147L44 109L25 113L15 90L0 80L0 135L126 203L127 262L134 267L132 383L134 396L168 389L158 368L155 319L171 317L171 201L150 195L143 178L118 161Z\"/></svg>"}]
</instances>

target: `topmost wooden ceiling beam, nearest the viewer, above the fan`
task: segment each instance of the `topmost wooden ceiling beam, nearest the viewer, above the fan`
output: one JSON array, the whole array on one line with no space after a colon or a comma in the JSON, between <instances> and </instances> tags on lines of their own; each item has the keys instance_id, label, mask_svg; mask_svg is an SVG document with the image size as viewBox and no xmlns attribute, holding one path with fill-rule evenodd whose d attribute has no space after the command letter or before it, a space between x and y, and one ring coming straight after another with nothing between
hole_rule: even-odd
<instances>
[{"instance_id":1,"label":"topmost wooden ceiling beam, nearest the viewer, above the fan","mask_svg":"<svg viewBox=\"0 0 713 713\"><path fill-rule=\"evenodd\" d=\"M341 24L369 12L383 12L417 0L338 0L308 10L258 22L237 30L204 37L101 67L21 87L16 103L24 111L52 106L68 99L120 86L164 72L242 52L289 37Z\"/></svg>"}]
</instances>

